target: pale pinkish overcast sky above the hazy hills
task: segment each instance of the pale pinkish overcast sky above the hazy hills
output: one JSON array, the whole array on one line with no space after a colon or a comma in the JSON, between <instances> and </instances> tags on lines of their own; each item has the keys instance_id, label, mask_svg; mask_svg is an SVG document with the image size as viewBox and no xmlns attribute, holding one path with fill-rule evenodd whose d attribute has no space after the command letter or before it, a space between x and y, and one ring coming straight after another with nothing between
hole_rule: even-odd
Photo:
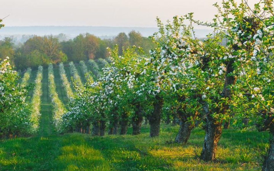
<instances>
[{"instance_id":1,"label":"pale pinkish overcast sky above the hazy hills","mask_svg":"<svg viewBox=\"0 0 274 171\"><path fill-rule=\"evenodd\" d=\"M6 26L156 27L156 16L166 20L194 12L210 20L215 2L221 0L1 0L0 18L10 15Z\"/></svg>"}]
</instances>

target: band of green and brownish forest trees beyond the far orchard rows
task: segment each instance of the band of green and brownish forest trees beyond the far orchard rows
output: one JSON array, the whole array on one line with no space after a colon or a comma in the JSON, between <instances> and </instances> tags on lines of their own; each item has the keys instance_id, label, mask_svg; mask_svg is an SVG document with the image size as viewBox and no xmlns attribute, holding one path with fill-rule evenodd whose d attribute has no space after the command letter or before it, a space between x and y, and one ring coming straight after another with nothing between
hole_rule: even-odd
<instances>
[{"instance_id":1,"label":"band of green and brownish forest trees beyond the far orchard rows","mask_svg":"<svg viewBox=\"0 0 274 171\"><path fill-rule=\"evenodd\" d=\"M122 47L142 47L145 53L156 47L148 37L143 37L140 32L130 31L128 34L119 33L113 39L100 39L95 35L79 34L66 41L65 34L56 36L32 36L23 44L15 45L11 37L0 40L0 56L10 57L16 69L24 70L27 67L36 68L39 65L81 60L107 58L107 47L113 48L119 45L119 53Z\"/></svg>"}]
</instances>

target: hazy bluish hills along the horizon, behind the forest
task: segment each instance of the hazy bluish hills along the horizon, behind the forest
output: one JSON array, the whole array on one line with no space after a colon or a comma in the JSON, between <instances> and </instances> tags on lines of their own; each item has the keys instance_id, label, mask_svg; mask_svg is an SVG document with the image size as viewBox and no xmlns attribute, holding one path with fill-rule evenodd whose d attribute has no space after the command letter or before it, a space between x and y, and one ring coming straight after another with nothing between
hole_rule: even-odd
<instances>
[{"instance_id":1,"label":"hazy bluish hills along the horizon, behind the forest","mask_svg":"<svg viewBox=\"0 0 274 171\"><path fill-rule=\"evenodd\" d=\"M95 26L13 26L3 27L0 30L0 39L4 37L14 37L16 42L24 42L22 35L58 35L64 33L67 38L73 38L80 33L90 33L102 39L113 38L120 32L129 33L139 31L143 36L148 37L158 31L155 27L95 27ZM205 37L210 33L208 29L196 29L197 37ZM21 40L21 41L20 41Z\"/></svg>"}]
</instances>

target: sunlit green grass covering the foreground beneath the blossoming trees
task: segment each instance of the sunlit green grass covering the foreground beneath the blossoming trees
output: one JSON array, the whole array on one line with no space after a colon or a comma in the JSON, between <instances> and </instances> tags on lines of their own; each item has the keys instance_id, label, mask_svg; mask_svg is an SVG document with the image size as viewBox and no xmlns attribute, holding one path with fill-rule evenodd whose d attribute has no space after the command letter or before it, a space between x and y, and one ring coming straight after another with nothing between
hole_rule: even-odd
<instances>
[{"instance_id":1,"label":"sunlit green grass covering the foreground beneath the blossoming trees","mask_svg":"<svg viewBox=\"0 0 274 171\"><path fill-rule=\"evenodd\" d=\"M53 133L1 140L0 170L261 170L269 139L266 133L224 130L217 160L206 163L198 158L205 132L196 128L187 144L170 143L178 129L178 126L163 124L157 138L149 138L149 127L144 126L138 136ZM128 134L131 132L129 129Z\"/></svg>"}]
</instances>

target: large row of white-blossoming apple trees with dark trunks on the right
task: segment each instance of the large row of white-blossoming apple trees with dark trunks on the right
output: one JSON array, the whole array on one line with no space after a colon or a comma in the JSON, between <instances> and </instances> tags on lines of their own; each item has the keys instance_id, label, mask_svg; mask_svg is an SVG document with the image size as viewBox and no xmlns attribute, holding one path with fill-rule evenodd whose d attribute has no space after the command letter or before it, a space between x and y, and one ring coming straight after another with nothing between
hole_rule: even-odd
<instances>
[{"instance_id":1,"label":"large row of white-blossoming apple trees with dark trunks on the right","mask_svg":"<svg viewBox=\"0 0 274 171\"><path fill-rule=\"evenodd\" d=\"M251 10L247 3L215 4L213 22L193 14L175 16L151 38L158 48L147 56L142 49L110 50L110 64L95 82L79 86L62 116L62 131L93 135L140 134L147 119L150 136L160 134L160 123L170 115L180 120L175 142L186 143L191 130L205 129L201 159L216 158L222 129L269 131L271 138L263 170L274 168L274 15L273 1L261 1ZM189 25L184 24L187 20ZM204 40L193 31L198 24L214 28ZM224 43L225 42L225 43ZM91 62L92 63L92 62ZM92 63L93 64L93 63Z\"/></svg>"}]
</instances>

